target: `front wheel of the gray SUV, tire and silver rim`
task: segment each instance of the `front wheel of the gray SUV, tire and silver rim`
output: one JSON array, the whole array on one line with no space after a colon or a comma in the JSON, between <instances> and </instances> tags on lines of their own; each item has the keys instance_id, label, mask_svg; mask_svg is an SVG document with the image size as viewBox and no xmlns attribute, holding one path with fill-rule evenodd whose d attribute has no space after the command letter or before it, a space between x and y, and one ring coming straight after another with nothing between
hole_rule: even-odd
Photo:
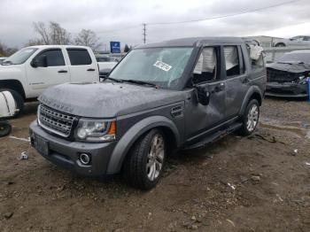
<instances>
[{"instance_id":1,"label":"front wheel of the gray SUV, tire and silver rim","mask_svg":"<svg viewBox=\"0 0 310 232\"><path fill-rule=\"evenodd\" d=\"M152 129L134 145L124 162L123 175L133 187L147 190L159 182L167 153L165 135Z\"/></svg>"}]
</instances>

